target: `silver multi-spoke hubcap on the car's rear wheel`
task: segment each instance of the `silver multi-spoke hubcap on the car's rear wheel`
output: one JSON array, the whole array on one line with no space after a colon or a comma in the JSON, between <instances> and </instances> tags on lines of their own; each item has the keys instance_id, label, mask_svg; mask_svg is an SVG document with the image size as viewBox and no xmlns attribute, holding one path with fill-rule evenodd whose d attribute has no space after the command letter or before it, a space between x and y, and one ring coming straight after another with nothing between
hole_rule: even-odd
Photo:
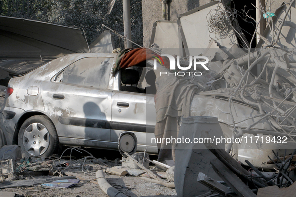
<instances>
[{"instance_id":1,"label":"silver multi-spoke hubcap on the car's rear wheel","mask_svg":"<svg viewBox=\"0 0 296 197\"><path fill-rule=\"evenodd\" d=\"M33 156L40 156L49 146L49 132L40 123L30 124L24 132L23 144L25 150Z\"/></svg>"}]
</instances>

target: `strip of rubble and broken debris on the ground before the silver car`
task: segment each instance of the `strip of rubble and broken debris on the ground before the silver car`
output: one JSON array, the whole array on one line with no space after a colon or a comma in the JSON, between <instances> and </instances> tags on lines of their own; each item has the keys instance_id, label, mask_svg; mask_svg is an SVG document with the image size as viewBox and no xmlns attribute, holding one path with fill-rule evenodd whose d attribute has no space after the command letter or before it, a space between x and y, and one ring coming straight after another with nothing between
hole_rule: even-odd
<instances>
[{"instance_id":1,"label":"strip of rubble and broken debris on the ground before the silver car","mask_svg":"<svg viewBox=\"0 0 296 197\"><path fill-rule=\"evenodd\" d=\"M84 152L89 155L77 159L71 155L74 151L78 153ZM88 182L101 187L102 191L106 191L105 193L108 196L127 196L129 190L140 189L140 187L135 188L136 185L124 186L118 181L108 183L109 180L114 179L116 176L137 177L137 179L143 179L143 182L149 181L174 188L174 183L169 182L169 180L173 181L173 179L166 180L166 170L170 166L162 163L158 164L158 166L162 166L162 169L156 168L155 165L149 166L151 160L147 153L145 153L144 157L144 152L132 155L126 153L122 160L115 159L114 161L106 158L97 159L81 148L67 148L61 156L53 155L50 158L27 156L22 158L20 147L17 145L4 146L0 149L0 152L4 152L2 155L5 157L5 159L2 157L0 161L0 196L6 193L12 196L15 196L16 193L16 196L27 196L24 193L27 192L28 194L28 191L32 196L40 193L44 195L44 192L49 190L52 190L52 193L56 195L59 191L79 188ZM12 165L9 165L10 162L12 162ZM157 163L154 160L152 162ZM93 187L97 186L94 185ZM17 190L12 190L13 188ZM112 192L110 192L110 189Z\"/></svg>"}]
</instances>

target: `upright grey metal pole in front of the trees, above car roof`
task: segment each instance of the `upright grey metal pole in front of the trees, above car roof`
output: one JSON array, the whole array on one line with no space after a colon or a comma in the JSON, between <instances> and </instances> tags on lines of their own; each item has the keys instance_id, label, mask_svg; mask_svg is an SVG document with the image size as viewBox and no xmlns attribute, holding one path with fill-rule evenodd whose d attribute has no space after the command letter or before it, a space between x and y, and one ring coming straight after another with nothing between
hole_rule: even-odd
<instances>
[{"instance_id":1,"label":"upright grey metal pole in front of the trees, above car roof","mask_svg":"<svg viewBox=\"0 0 296 197\"><path fill-rule=\"evenodd\" d=\"M122 6L123 6L123 30L124 30L124 36L127 38L124 40L124 48L131 48L132 43L128 41L128 39L132 40L130 0L122 0Z\"/></svg>"}]
</instances>

